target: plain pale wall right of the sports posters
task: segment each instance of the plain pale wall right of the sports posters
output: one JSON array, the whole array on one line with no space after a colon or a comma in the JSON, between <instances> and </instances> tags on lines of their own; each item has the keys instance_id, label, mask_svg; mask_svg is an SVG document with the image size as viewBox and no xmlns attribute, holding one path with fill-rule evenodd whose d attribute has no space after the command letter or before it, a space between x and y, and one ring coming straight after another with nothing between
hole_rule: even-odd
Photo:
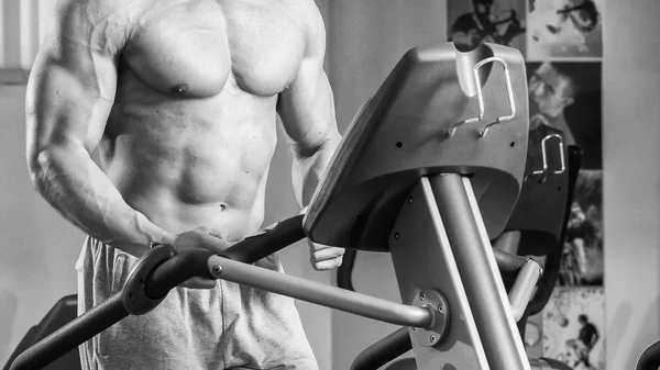
<instances>
[{"instance_id":1,"label":"plain pale wall right of the sports posters","mask_svg":"<svg viewBox=\"0 0 660 370\"><path fill-rule=\"evenodd\" d=\"M660 2L607 1L603 168L607 369L660 339Z\"/></svg>"}]
</instances>

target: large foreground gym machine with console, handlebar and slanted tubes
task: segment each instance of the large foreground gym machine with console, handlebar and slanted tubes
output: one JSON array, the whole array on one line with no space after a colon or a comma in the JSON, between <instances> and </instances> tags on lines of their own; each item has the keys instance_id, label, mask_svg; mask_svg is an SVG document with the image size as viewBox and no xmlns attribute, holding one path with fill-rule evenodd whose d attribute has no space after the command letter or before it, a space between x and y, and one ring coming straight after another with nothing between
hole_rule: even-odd
<instances>
[{"instance_id":1,"label":"large foreground gym machine with console, handlebar and slanted tubes","mask_svg":"<svg viewBox=\"0 0 660 370\"><path fill-rule=\"evenodd\" d=\"M191 277L402 325L419 369L542 368L530 365L515 315L527 310L539 260L491 244L524 183L527 99L516 49L410 49L351 123L305 214L219 255L152 247L122 292L23 351L10 369L46 366L128 315L153 310ZM389 253L403 303L251 265L305 237ZM507 294L503 274L510 273Z\"/></svg>"}]
</instances>

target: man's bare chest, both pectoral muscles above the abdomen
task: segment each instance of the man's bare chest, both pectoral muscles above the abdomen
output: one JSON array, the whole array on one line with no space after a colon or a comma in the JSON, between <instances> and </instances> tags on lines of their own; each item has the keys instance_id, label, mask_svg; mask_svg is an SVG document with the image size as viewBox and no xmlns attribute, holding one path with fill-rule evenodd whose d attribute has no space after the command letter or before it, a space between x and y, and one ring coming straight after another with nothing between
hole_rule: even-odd
<instances>
[{"instance_id":1,"label":"man's bare chest, both pectoral muscles above the abdomen","mask_svg":"<svg viewBox=\"0 0 660 370\"><path fill-rule=\"evenodd\" d=\"M145 85L161 92L204 98L228 79L270 97L295 78L305 32L280 1L150 1L133 25L123 55Z\"/></svg>"}]
</instances>

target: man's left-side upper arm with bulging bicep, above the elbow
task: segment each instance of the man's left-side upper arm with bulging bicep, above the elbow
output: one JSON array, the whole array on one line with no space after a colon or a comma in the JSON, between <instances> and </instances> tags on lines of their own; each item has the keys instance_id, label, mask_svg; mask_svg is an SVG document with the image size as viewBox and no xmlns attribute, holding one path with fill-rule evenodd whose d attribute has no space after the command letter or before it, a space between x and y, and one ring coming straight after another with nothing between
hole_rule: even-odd
<instances>
[{"instance_id":1,"label":"man's left-side upper arm with bulging bicep, above the elbow","mask_svg":"<svg viewBox=\"0 0 660 370\"><path fill-rule=\"evenodd\" d=\"M117 68L112 53L92 44L91 32L85 24L56 25L40 49L25 99L29 154L65 142L91 152L99 143L114 100Z\"/></svg>"}]
</instances>

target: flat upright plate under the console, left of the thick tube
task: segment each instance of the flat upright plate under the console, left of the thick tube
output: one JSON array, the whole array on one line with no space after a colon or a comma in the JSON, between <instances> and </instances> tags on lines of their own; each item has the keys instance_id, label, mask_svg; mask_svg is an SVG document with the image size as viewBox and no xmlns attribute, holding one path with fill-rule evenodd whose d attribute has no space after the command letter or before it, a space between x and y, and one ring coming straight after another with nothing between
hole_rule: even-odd
<instances>
[{"instance_id":1,"label":"flat upright plate under the console, left of the thick tube","mask_svg":"<svg viewBox=\"0 0 660 370\"><path fill-rule=\"evenodd\" d=\"M482 338L437 203L429 180L422 177L403 204L388 242L402 301L419 302L422 292L435 291L448 302L444 338L432 343L432 334L408 329L417 368L487 370Z\"/></svg>"}]
</instances>

